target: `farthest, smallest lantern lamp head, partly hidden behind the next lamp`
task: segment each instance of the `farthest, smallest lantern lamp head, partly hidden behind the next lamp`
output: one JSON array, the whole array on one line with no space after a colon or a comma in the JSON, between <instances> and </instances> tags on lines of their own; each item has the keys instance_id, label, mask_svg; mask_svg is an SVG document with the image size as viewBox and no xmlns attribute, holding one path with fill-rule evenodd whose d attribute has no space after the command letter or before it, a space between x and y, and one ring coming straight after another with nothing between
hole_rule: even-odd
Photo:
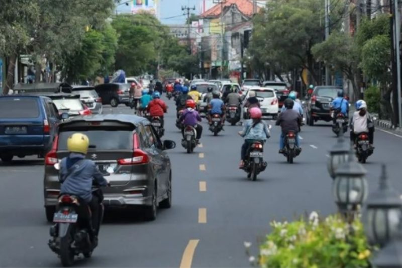
<instances>
[{"instance_id":1,"label":"farthest, smallest lantern lamp head, partly hidden behind the next lamp","mask_svg":"<svg viewBox=\"0 0 402 268\"><path fill-rule=\"evenodd\" d=\"M328 159L327 168L332 179L335 179L335 171L342 163L348 160L349 147L345 138L343 137L343 131L340 130L340 135L337 139L337 143L330 150L330 158Z\"/></svg>"}]
</instances>

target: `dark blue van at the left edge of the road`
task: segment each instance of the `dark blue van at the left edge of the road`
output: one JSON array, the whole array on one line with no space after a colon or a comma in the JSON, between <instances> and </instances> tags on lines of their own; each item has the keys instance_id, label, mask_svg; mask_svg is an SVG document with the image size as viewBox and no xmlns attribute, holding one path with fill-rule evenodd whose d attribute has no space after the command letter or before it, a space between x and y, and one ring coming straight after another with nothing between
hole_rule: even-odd
<instances>
[{"instance_id":1,"label":"dark blue van at the left edge of the road","mask_svg":"<svg viewBox=\"0 0 402 268\"><path fill-rule=\"evenodd\" d=\"M61 116L42 96L0 96L0 159L43 157L52 147Z\"/></svg>"}]
</instances>

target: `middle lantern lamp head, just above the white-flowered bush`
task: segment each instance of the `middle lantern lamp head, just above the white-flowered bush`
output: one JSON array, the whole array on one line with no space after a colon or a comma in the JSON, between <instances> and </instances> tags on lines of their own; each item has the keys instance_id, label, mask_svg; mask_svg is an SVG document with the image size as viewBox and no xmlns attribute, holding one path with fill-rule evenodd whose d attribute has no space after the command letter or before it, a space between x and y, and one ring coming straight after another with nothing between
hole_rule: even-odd
<instances>
[{"instance_id":1,"label":"middle lantern lamp head, just above the white-flowered bush","mask_svg":"<svg viewBox=\"0 0 402 268\"><path fill-rule=\"evenodd\" d=\"M348 161L341 164L335 171L335 181L332 185L335 203L339 211L346 216L354 216L358 207L367 198L366 170L356 162L351 146Z\"/></svg>"}]
</instances>

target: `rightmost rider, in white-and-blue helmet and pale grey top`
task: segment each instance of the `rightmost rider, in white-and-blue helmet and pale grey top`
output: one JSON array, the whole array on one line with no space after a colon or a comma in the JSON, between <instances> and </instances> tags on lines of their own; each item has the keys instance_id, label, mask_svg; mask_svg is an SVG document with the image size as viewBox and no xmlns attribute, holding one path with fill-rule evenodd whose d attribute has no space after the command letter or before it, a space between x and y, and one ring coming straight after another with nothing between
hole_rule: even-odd
<instances>
[{"instance_id":1,"label":"rightmost rider, in white-and-blue helmet and pale grey top","mask_svg":"<svg viewBox=\"0 0 402 268\"><path fill-rule=\"evenodd\" d=\"M363 100L358 100L355 103L356 112L353 113L350 121L350 140L356 148L356 138L360 133L368 133L368 143L370 149L374 149L374 121L371 115L367 112L367 104Z\"/></svg>"}]
</instances>

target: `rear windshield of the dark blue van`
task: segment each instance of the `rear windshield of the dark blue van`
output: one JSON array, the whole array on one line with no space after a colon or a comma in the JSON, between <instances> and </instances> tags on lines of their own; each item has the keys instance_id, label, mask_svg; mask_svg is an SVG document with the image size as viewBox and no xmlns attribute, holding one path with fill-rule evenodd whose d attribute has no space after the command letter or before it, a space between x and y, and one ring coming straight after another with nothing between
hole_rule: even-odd
<instances>
[{"instance_id":1,"label":"rear windshield of the dark blue van","mask_svg":"<svg viewBox=\"0 0 402 268\"><path fill-rule=\"evenodd\" d=\"M0 118L37 118L38 116L39 106L36 99L0 99Z\"/></svg>"}]
</instances>

